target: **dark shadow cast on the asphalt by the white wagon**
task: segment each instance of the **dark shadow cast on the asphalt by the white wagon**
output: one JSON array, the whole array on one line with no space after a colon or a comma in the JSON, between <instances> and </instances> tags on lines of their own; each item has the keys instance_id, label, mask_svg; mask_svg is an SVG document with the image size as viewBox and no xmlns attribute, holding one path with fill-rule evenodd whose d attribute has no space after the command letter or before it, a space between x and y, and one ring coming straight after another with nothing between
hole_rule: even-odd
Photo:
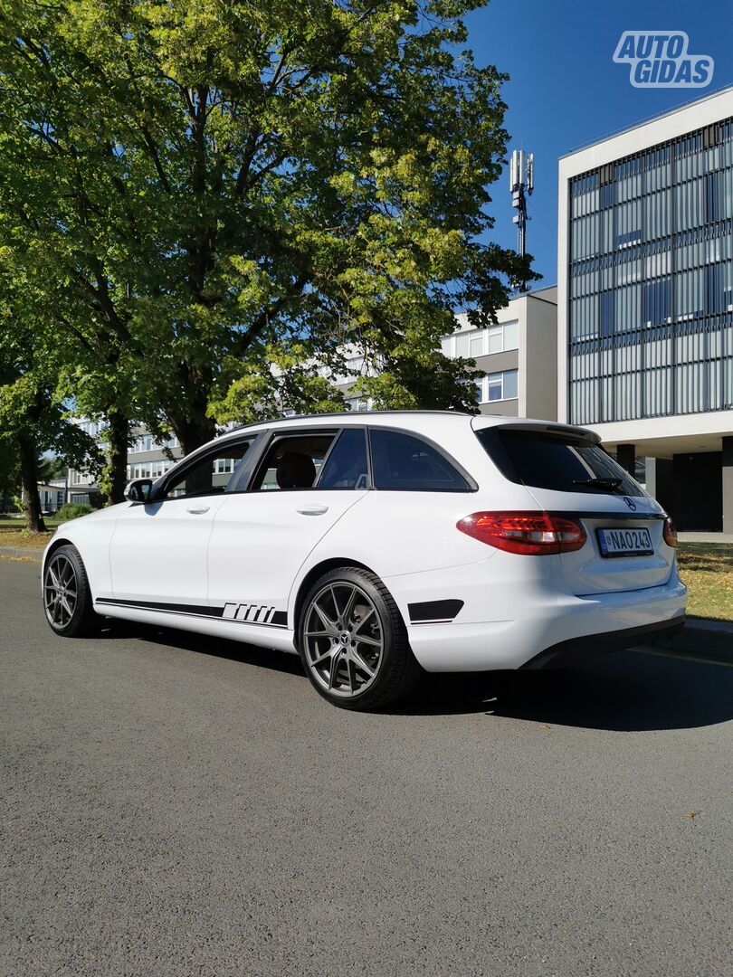
<instances>
[{"instance_id":1,"label":"dark shadow cast on the asphalt by the white wagon","mask_svg":"<svg viewBox=\"0 0 733 977\"><path fill-rule=\"evenodd\" d=\"M304 695L315 695L296 655L122 620L108 620L101 636L300 675ZM395 716L484 713L618 732L691 729L733 719L733 667L629 650L569 669L432 674L423 676L407 700L381 711Z\"/></svg>"}]
</instances>

